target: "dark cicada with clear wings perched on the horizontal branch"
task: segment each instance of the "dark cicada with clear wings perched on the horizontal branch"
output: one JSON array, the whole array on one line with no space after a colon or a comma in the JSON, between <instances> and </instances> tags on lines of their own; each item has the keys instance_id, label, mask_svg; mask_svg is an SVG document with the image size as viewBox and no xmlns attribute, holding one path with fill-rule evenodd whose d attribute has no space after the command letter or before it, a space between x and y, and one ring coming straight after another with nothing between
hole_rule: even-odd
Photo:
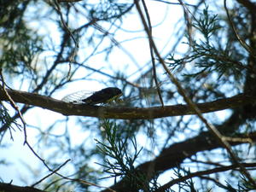
<instances>
[{"instance_id":1,"label":"dark cicada with clear wings perched on the horizontal branch","mask_svg":"<svg viewBox=\"0 0 256 192\"><path fill-rule=\"evenodd\" d=\"M62 98L63 102L72 102L76 104L89 104L95 105L99 103L109 103L109 102L117 102L119 96L122 95L122 91L116 87L108 87L102 90L98 90L89 96L89 92L85 90L80 90L78 92L69 94Z\"/></svg>"}]
</instances>

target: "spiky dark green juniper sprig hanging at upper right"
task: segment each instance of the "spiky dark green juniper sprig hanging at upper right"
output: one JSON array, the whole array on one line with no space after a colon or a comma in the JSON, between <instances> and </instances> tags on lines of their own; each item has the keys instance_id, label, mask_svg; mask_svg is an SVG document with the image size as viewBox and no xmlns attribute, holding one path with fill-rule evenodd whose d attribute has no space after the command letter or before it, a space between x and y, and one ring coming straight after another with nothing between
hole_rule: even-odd
<instances>
[{"instance_id":1,"label":"spiky dark green juniper sprig hanging at upper right","mask_svg":"<svg viewBox=\"0 0 256 192\"><path fill-rule=\"evenodd\" d=\"M206 8L199 19L195 18L192 26L197 30L195 37L202 35L204 38L187 43L191 48L190 55L181 59L176 59L174 55L170 55L168 58L170 67L177 67L186 63L192 64L195 61L195 69L198 72L186 73L187 76L195 78L202 73L218 73L218 78L226 75L241 79L242 72L246 68L242 63L244 56L234 53L234 49L229 43L224 48L217 43L221 41L218 38L218 32L224 27L219 25L218 15L211 15Z\"/></svg>"}]
</instances>

